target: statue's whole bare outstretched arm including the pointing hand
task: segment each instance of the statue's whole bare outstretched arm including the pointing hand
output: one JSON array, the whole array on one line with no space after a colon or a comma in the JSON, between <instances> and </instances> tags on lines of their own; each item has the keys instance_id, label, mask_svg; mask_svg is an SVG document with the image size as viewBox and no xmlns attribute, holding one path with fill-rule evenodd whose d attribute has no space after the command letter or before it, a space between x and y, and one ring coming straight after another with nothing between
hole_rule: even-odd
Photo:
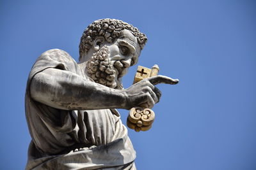
<instances>
[{"instance_id":1,"label":"statue's whole bare outstretched arm including the pointing hand","mask_svg":"<svg viewBox=\"0 0 256 170\"><path fill-rule=\"evenodd\" d=\"M154 85L177 82L165 76L154 76L128 89L116 90L88 81L70 71L48 68L35 74L31 80L30 93L35 101L62 110L130 109L143 103L152 108L161 96Z\"/></svg>"}]
</instances>

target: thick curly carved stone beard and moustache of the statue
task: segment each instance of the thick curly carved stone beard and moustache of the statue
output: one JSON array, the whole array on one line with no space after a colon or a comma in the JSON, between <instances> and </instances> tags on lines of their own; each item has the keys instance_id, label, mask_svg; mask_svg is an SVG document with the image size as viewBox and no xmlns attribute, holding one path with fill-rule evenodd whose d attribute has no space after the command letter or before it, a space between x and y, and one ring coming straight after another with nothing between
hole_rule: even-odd
<instances>
[{"instance_id":1,"label":"thick curly carved stone beard and moustache of the statue","mask_svg":"<svg viewBox=\"0 0 256 170\"><path fill-rule=\"evenodd\" d=\"M98 52L93 53L86 63L86 73L95 83L100 83L112 89L124 89L122 76L127 68L119 60L109 59L108 46L102 46Z\"/></svg>"}]
</instances>

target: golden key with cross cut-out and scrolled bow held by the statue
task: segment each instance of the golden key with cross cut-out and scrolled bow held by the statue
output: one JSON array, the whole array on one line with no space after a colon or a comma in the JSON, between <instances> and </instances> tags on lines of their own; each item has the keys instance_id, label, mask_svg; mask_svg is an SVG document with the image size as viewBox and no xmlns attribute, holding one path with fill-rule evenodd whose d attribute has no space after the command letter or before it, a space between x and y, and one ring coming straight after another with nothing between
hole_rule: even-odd
<instances>
[{"instance_id":1,"label":"golden key with cross cut-out and scrolled bow held by the statue","mask_svg":"<svg viewBox=\"0 0 256 170\"><path fill-rule=\"evenodd\" d=\"M156 76L159 72L159 67L155 64L152 69L147 67L138 66L137 73L134 77L134 83L143 80L144 78L150 78ZM155 113L153 110L147 108L146 105L131 108L127 117L127 126L134 129L136 132L148 131L152 127L155 119Z\"/></svg>"}]
</instances>

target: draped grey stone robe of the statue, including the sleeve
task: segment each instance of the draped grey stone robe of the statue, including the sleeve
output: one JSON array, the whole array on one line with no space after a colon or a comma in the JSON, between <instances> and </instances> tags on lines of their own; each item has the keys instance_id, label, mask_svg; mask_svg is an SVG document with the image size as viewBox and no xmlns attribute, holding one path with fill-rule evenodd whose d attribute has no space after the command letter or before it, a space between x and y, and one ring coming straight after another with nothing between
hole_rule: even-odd
<instances>
[{"instance_id":1,"label":"draped grey stone robe of the statue, including the sleeve","mask_svg":"<svg viewBox=\"0 0 256 170\"><path fill-rule=\"evenodd\" d=\"M38 57L29 73L25 97L32 138L26 169L136 169L136 152L118 111L60 110L31 98L31 80L47 68L92 81L63 50L48 50Z\"/></svg>"}]
</instances>

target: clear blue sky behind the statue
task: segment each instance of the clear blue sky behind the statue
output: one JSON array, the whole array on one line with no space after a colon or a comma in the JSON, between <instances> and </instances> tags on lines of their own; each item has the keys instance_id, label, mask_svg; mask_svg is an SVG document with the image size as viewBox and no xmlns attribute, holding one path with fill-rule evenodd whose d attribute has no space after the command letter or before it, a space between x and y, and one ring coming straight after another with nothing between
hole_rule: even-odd
<instances>
[{"instance_id":1,"label":"clear blue sky behind the statue","mask_svg":"<svg viewBox=\"0 0 256 170\"><path fill-rule=\"evenodd\" d=\"M148 36L138 65L158 64L178 85L157 85L150 131L129 131L138 169L256 169L255 1L1 1L1 169L24 169L29 71L45 50L77 60L88 24L117 18ZM132 84L136 67L124 78ZM126 122L126 110L120 110Z\"/></svg>"}]
</instances>

